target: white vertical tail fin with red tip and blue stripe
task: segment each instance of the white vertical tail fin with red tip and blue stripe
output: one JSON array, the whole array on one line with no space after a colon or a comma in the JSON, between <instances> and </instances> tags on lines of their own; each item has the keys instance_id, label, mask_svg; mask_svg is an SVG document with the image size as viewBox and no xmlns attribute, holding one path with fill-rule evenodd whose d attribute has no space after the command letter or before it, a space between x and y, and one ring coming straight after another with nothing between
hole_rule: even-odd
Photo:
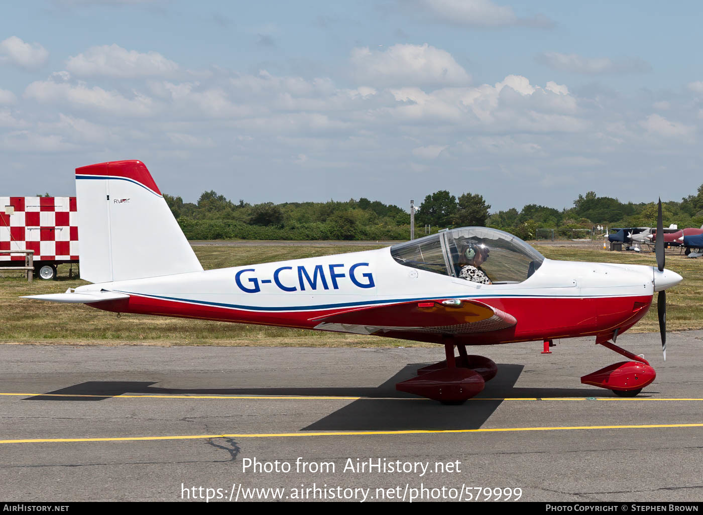
<instances>
[{"instance_id":1,"label":"white vertical tail fin with red tip and blue stripe","mask_svg":"<svg viewBox=\"0 0 703 515\"><path fill-rule=\"evenodd\" d=\"M141 161L76 169L81 278L141 279L202 270Z\"/></svg>"}]
</instances>

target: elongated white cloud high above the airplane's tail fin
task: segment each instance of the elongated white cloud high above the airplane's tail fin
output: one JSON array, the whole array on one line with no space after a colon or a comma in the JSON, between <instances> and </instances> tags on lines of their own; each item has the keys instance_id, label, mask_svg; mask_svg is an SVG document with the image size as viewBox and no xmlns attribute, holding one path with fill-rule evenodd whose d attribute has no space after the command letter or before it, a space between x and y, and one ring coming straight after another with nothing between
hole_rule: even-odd
<instances>
[{"instance_id":1,"label":"elongated white cloud high above the airplane's tail fin","mask_svg":"<svg viewBox=\"0 0 703 515\"><path fill-rule=\"evenodd\" d=\"M127 50L116 44L92 46L68 59L66 69L78 77L169 77L179 66L158 52Z\"/></svg>"}]
</instances>

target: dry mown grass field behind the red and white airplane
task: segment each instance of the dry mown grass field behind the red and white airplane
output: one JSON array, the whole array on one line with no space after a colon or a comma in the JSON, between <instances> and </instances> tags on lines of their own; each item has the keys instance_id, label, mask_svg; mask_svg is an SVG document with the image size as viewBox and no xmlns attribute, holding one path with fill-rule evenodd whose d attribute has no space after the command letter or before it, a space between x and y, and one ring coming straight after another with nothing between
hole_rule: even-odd
<instances>
[{"instance_id":1,"label":"dry mown grass field behind the red and white airplane","mask_svg":"<svg viewBox=\"0 0 703 515\"><path fill-rule=\"evenodd\" d=\"M205 246L194 247L206 269L248 265L266 261L297 259L340 252L379 248L360 246ZM654 265L654 254L607 252L579 247L536 246L550 259L600 261ZM678 252L678 251L677 251ZM703 259L678 254L666 256L666 268L683 275L683 282L667 291L669 330L703 329ZM290 330L226 322L204 322L146 315L122 315L100 311L83 304L55 304L18 299L21 295L65 292L86 282L67 279L68 266L59 268L56 281L27 280L19 273L0 277L0 342L35 344L148 344L223 346L424 346L425 344L354 334ZM632 332L656 331L654 304ZM431 344L427 344L430 346Z\"/></svg>"}]
</instances>

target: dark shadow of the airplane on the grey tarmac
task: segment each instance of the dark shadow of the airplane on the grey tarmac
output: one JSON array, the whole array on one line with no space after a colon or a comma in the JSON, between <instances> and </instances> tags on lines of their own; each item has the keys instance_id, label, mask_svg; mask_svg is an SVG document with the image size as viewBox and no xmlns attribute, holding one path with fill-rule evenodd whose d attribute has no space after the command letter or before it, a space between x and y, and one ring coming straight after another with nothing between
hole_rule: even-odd
<instances>
[{"instance_id":1,"label":"dark shadow of the airplane on the grey tarmac","mask_svg":"<svg viewBox=\"0 0 703 515\"><path fill-rule=\"evenodd\" d=\"M413 399L412 395L396 391L395 384L413 377L419 367L427 363L406 365L380 386L307 387L307 388L228 388L228 389L174 389L152 386L155 382L91 381L46 392L61 396L38 395L24 400L80 400L99 401L124 394L136 395L230 395L230 396L344 396L364 397L335 410L317 422L301 428L302 431L402 431L404 429L478 429L503 403L503 398L529 397L592 397L610 396L610 391L593 389L516 388L523 365L500 364L498 374L477 398L464 405L446 406L434 400ZM653 393L653 392L650 392ZM75 395L75 397L72 397ZM89 396L89 397L82 397Z\"/></svg>"}]
</instances>

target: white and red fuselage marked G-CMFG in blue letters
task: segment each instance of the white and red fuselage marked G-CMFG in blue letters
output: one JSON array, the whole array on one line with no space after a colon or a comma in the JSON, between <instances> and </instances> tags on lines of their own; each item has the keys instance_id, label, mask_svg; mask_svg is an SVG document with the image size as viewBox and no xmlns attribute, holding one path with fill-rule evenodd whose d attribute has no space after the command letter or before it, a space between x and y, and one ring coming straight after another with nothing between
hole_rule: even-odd
<instances>
[{"instance_id":1,"label":"white and red fuselage marked G-CMFG in blue letters","mask_svg":"<svg viewBox=\"0 0 703 515\"><path fill-rule=\"evenodd\" d=\"M399 264L389 248L161 277L104 282L129 299L93 304L141 313L315 329L314 320L353 308L431 299L475 299L510 313L517 324L460 337L468 345L609 334L647 313L653 269L544 259L522 282L478 284ZM439 343L437 334L393 334Z\"/></svg>"}]
</instances>

